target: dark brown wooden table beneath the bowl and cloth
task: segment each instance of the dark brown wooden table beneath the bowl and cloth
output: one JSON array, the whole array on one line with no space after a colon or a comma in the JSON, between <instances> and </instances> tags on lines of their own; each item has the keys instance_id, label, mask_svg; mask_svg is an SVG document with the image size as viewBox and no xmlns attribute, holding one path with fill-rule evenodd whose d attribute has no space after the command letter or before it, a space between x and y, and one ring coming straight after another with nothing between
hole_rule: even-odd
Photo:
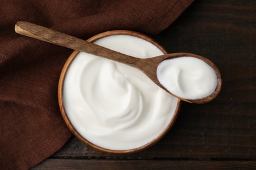
<instances>
[{"instance_id":1,"label":"dark brown wooden table beneath the bowl and cloth","mask_svg":"<svg viewBox=\"0 0 256 170\"><path fill-rule=\"evenodd\" d=\"M182 103L169 133L135 154L107 154L75 137L34 169L256 169L256 1L194 1L159 35L168 52L205 56L223 90L204 105Z\"/></svg>"}]
</instances>

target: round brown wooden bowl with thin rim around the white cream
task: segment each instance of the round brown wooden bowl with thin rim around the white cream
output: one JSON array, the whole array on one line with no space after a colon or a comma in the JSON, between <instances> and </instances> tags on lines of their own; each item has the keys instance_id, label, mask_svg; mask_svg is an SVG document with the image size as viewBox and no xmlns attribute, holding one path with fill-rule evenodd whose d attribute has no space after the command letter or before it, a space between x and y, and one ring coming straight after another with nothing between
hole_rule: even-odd
<instances>
[{"instance_id":1,"label":"round brown wooden bowl with thin rim around the white cream","mask_svg":"<svg viewBox=\"0 0 256 170\"><path fill-rule=\"evenodd\" d=\"M154 44L155 46L157 46L164 54L167 54L167 52L163 49L162 46L160 46L160 44L158 44L156 41L152 40L150 37L147 37L146 35L142 35L141 33L137 33L134 31L127 31L127 30L115 30L115 31L106 31L104 33L100 33L98 35L95 35L93 37L91 37L90 39L88 39L87 41L89 42L94 42L98 39L101 39L102 37L107 37L110 35L131 35L131 36L135 36L135 37L139 37L140 39L144 39L148 42L151 42L152 44ZM91 143L90 141L88 141L87 139L85 139L83 136L81 136L77 130L74 128L74 126L72 125L72 123L70 122L66 111L65 111L65 107L63 104L63 84L64 84L64 78L66 76L66 72L68 71L68 67L70 67L70 64L72 63L72 61L74 60L75 56L77 56L77 54L79 53L79 51L75 50L70 57L68 58L68 60L66 61L63 69L62 69L62 73L60 74L60 80L58 83L58 103L60 106L60 111L62 113L62 117L64 118L64 121L66 122L67 126L70 128L70 131L72 131L72 133L74 133L74 135L83 143L91 146L92 148L95 148L96 150L100 150L103 152L109 152L109 153L114 153L114 154L124 154L124 153L131 153L131 152L138 152L140 150L143 150L145 148L148 148L149 146L152 146L152 144L155 144L156 142L158 142L166 133L167 131L169 131L169 129L171 128L171 126L173 126L173 123L175 122L177 115L179 113L179 109L181 107L181 100L178 99L177 102L177 108L175 110L175 114L173 115L173 118L171 118L171 121L169 122L168 126L165 128L165 130L153 141L151 141L150 143L144 144L143 146L140 146L139 148L133 148L133 149L129 149L129 150L110 150L108 148L102 148L100 146L97 146L96 144Z\"/></svg>"}]
</instances>

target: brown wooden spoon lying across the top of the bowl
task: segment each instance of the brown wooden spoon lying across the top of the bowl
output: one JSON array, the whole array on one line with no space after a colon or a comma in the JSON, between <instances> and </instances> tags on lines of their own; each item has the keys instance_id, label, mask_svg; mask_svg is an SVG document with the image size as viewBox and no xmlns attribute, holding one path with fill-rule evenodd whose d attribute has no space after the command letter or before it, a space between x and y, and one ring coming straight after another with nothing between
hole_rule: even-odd
<instances>
[{"instance_id":1,"label":"brown wooden spoon lying across the top of the bowl","mask_svg":"<svg viewBox=\"0 0 256 170\"><path fill-rule=\"evenodd\" d=\"M221 73L219 69L216 67L214 63L209 61L207 58L203 58L202 56L198 56L196 54L189 54L189 53L173 53L173 54L164 54L162 56L156 56L154 58L135 58L132 56L127 56L125 54L121 54L114 50L110 50L108 48L104 48L102 46L98 46L91 42L84 41L82 39L78 39L76 37L72 37L71 35L66 35L64 33L60 33L58 31L54 31L53 29L49 29L47 27L42 27L40 25L31 24L29 22L17 22L15 25L16 33L21 35L26 35L28 37L32 37L34 39L39 39L41 41L50 42L53 44L57 44L60 46L65 46L67 48L71 48L73 50L79 50L81 52L87 52L90 54L95 54L96 56L100 56L103 58L112 59L114 61L118 61L121 63L125 63L127 65L131 65L132 67L136 67L140 69L143 73L145 73L153 82L155 82L160 88L163 88L168 93L169 92L165 87L163 87L160 82L158 81L158 77L156 74L156 70L158 65L161 61L165 59L172 59L172 58L179 58L183 56L191 56L194 58L199 58L205 61L208 65L210 65L217 75L217 87L211 95L207 97L203 97L201 99L183 99L179 96L179 99L182 101L187 101L190 103L207 103L213 100L219 92L221 91L222 80L221 80ZM173 93L171 93L173 95Z\"/></svg>"}]
</instances>

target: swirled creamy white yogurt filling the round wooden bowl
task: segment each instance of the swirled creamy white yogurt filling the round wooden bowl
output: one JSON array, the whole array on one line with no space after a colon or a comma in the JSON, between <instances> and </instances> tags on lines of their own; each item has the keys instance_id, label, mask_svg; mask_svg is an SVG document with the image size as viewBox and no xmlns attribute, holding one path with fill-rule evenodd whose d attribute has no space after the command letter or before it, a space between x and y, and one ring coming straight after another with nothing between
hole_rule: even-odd
<instances>
[{"instance_id":1,"label":"swirled creamy white yogurt filling the round wooden bowl","mask_svg":"<svg viewBox=\"0 0 256 170\"><path fill-rule=\"evenodd\" d=\"M163 54L129 35L95 43L140 58ZM70 122L85 139L103 148L128 150L150 143L165 130L178 99L138 69L79 52L66 73L63 102Z\"/></svg>"}]
</instances>

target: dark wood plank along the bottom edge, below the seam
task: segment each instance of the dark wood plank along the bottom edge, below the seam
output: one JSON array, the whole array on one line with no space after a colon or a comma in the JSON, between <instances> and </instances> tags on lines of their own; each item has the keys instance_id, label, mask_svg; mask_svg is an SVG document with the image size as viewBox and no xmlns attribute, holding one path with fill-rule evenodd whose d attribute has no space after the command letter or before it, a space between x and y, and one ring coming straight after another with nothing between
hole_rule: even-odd
<instances>
[{"instance_id":1,"label":"dark wood plank along the bottom edge, below the seam","mask_svg":"<svg viewBox=\"0 0 256 170\"><path fill-rule=\"evenodd\" d=\"M49 159L39 169L255 169L255 161L70 160Z\"/></svg>"}]
</instances>

